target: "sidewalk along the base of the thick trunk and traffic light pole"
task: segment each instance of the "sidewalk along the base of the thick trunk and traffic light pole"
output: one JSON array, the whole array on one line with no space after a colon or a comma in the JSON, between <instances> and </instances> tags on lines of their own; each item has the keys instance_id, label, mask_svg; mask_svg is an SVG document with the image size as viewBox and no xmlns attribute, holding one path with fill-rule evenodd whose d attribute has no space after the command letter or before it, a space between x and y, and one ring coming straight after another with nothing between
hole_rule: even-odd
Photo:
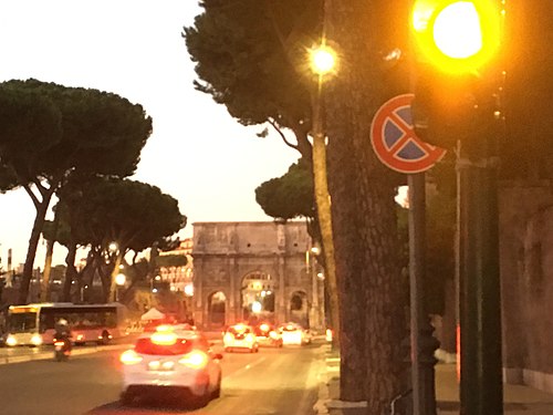
<instances>
[{"instance_id":1,"label":"sidewalk along the base of the thick trunk and traffic light pole","mask_svg":"<svg viewBox=\"0 0 553 415\"><path fill-rule=\"evenodd\" d=\"M340 401L340 357L330 345L321 347L321 386L314 409L319 415L366 415L364 403ZM456 364L436 365L438 415L459 415ZM553 415L553 394L523 385L503 385L504 415ZM491 414L490 414L491 415Z\"/></svg>"}]
</instances>

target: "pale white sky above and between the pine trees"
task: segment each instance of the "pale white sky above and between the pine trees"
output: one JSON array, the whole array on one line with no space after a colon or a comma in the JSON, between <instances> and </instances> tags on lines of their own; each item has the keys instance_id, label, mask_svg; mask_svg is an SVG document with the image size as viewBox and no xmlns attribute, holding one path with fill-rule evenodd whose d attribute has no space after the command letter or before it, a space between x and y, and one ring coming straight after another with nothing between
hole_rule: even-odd
<instances>
[{"instance_id":1,"label":"pale white sky above and between the pine trees","mask_svg":"<svg viewBox=\"0 0 553 415\"><path fill-rule=\"evenodd\" d=\"M181 38L197 0L0 0L0 82L55 82L116 93L143 105L154 133L133 179L179 201L195 221L271 220L254 189L281 176L299 153L275 135L259 138L225 106L192 87ZM24 190L0 195L0 257L24 261L35 216ZM54 263L65 250L56 246ZM35 267L43 268L43 246Z\"/></svg>"}]
</instances>

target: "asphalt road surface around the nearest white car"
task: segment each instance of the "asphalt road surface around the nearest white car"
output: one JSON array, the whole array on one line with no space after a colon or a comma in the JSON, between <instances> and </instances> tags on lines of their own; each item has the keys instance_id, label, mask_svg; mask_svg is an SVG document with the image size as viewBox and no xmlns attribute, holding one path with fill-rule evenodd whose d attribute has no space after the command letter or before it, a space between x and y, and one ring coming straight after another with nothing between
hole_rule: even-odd
<instances>
[{"instance_id":1,"label":"asphalt road surface around the nearest white car","mask_svg":"<svg viewBox=\"0 0 553 415\"><path fill-rule=\"evenodd\" d=\"M317 345L225 353L221 397L202 408L118 402L121 350L0 365L0 414L311 415L317 398ZM216 346L217 349L217 346Z\"/></svg>"}]
</instances>

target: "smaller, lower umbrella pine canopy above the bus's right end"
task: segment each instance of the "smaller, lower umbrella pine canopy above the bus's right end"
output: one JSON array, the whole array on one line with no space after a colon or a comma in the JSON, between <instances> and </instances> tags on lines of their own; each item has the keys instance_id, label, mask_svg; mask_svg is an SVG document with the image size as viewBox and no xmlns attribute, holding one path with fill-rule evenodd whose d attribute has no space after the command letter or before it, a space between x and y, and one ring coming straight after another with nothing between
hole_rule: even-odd
<instances>
[{"instance_id":1,"label":"smaller, lower umbrella pine canopy above the bus's right end","mask_svg":"<svg viewBox=\"0 0 553 415\"><path fill-rule=\"evenodd\" d=\"M87 267L92 267L92 276L101 277L106 298L112 286L109 276L128 251L136 258L147 248L165 246L186 225L175 198L156 186L129 179L74 177L64 187L60 204L66 206L62 211L67 212L67 225L59 228L69 227L70 235L59 234L59 241L73 252L76 246L90 248ZM67 276L66 281L71 278Z\"/></svg>"}]
</instances>

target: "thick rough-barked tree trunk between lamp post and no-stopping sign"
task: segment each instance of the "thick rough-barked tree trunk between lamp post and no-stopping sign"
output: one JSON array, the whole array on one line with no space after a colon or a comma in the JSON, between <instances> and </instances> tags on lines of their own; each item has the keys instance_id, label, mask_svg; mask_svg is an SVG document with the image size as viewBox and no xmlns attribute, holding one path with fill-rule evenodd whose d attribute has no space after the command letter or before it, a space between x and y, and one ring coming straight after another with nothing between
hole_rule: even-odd
<instances>
[{"instance_id":1,"label":"thick rough-barked tree trunk between lamp post and no-stopping sign","mask_svg":"<svg viewBox=\"0 0 553 415\"><path fill-rule=\"evenodd\" d=\"M384 3L326 0L328 40L340 45L342 59L340 74L326 85L328 179L343 295L341 397L367 400L371 415L380 415L400 392L406 334L395 175L369 144L371 120L389 97L378 41Z\"/></svg>"}]
</instances>

